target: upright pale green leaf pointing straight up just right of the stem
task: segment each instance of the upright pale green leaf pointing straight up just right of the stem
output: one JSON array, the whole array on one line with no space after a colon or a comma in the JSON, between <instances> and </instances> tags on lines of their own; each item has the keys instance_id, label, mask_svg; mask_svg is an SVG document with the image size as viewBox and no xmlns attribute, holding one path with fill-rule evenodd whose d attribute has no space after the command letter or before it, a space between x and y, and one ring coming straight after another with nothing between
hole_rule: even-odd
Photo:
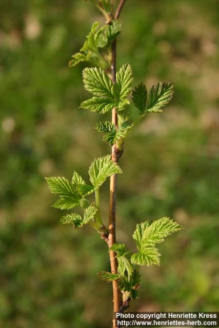
<instances>
[{"instance_id":1,"label":"upright pale green leaf pointing straight up just right of the stem","mask_svg":"<svg viewBox=\"0 0 219 328\"><path fill-rule=\"evenodd\" d=\"M116 94L118 99L121 101L127 97L131 92L131 83L132 83L132 69L129 64L125 64L121 69L116 73Z\"/></svg>"}]
</instances>

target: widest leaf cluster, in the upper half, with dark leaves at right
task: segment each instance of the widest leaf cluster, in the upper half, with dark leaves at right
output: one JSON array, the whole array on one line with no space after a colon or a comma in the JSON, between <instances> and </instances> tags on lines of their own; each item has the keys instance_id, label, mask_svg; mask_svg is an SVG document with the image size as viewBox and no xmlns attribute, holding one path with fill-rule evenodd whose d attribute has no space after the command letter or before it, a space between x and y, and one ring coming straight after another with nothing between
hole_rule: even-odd
<instances>
[{"instance_id":1,"label":"widest leaf cluster, in the upper half, with dark leaves at right","mask_svg":"<svg viewBox=\"0 0 219 328\"><path fill-rule=\"evenodd\" d=\"M147 113L162 112L163 107L169 103L173 95L172 83L157 83L153 86L147 97L146 86L141 83L132 91L132 101L140 112L135 122L130 120L128 96L131 92L132 69L129 64L123 65L116 73L116 83L113 84L110 77L102 68L85 68L83 71L85 89L93 94L93 97L83 101L81 108L91 112L105 114L116 109L118 126L109 121L101 121L96 124L98 132L104 132L103 140L109 145L124 144L127 133ZM148 99L147 99L148 98ZM121 142L122 141L122 142ZM124 146L122 146L124 147Z\"/></svg>"}]
</instances>

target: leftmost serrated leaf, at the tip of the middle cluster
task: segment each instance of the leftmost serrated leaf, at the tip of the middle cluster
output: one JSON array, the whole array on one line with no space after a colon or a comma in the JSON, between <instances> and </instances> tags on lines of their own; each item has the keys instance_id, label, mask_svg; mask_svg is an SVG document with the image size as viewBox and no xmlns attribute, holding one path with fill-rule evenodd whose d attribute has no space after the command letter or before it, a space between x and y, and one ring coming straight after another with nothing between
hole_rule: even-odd
<instances>
[{"instance_id":1,"label":"leftmost serrated leaf, at the tip of the middle cluster","mask_svg":"<svg viewBox=\"0 0 219 328\"><path fill-rule=\"evenodd\" d=\"M51 193L59 196L75 195L74 188L70 185L65 177L48 177L46 178Z\"/></svg>"}]
</instances>

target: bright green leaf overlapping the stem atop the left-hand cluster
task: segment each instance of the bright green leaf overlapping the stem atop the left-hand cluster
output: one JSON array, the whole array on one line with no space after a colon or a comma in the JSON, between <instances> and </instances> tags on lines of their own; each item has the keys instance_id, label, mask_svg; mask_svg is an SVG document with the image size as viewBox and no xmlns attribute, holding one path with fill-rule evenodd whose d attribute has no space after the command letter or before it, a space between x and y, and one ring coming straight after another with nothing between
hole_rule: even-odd
<instances>
[{"instance_id":1,"label":"bright green leaf overlapping the stem atop the left-hand cluster","mask_svg":"<svg viewBox=\"0 0 219 328\"><path fill-rule=\"evenodd\" d=\"M98 189L109 176L122 173L122 170L111 160L110 155L106 155L95 159L91 163L88 173L92 185Z\"/></svg>"}]
</instances>

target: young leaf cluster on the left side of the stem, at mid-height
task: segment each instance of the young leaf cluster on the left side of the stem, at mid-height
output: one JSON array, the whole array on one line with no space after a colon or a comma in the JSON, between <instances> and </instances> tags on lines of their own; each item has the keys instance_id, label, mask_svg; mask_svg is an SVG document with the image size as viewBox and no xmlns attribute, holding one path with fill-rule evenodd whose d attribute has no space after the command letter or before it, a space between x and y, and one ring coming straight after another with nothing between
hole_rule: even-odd
<instances>
[{"instance_id":1,"label":"young leaf cluster on the left side of the stem, at mid-height","mask_svg":"<svg viewBox=\"0 0 219 328\"><path fill-rule=\"evenodd\" d=\"M122 170L111 160L110 155L106 155L95 159L91 163L88 173L91 185L87 185L77 172L73 173L71 182L65 177L46 178L50 191L59 196L53 204L54 208L71 210L79 206L85 209L83 218L77 213L70 213L62 217L62 223L71 223L74 228L88 223L97 212L95 205L85 197L98 191L109 176L122 173Z\"/></svg>"}]
</instances>

